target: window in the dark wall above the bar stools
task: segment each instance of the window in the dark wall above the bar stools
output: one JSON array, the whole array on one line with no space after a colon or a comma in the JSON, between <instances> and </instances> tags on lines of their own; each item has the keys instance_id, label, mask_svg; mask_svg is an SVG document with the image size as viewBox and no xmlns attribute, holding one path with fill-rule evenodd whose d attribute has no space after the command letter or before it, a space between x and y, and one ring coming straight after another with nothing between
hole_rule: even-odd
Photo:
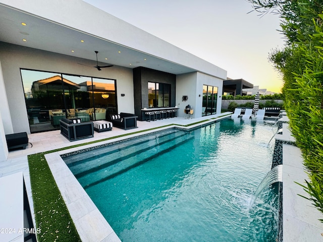
<instances>
[{"instance_id":1,"label":"window in the dark wall above the bar stools","mask_svg":"<svg viewBox=\"0 0 323 242\"><path fill-rule=\"evenodd\" d=\"M166 83L148 82L148 106L169 107L171 85Z\"/></svg>"}]
</instances>

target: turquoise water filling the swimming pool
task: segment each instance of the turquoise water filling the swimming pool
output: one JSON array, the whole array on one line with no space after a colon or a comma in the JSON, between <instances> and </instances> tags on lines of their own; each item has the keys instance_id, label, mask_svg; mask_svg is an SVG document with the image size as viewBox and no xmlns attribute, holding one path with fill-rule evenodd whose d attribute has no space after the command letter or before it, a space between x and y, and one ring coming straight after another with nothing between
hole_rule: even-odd
<instances>
[{"instance_id":1,"label":"turquoise water filling the swimming pool","mask_svg":"<svg viewBox=\"0 0 323 242\"><path fill-rule=\"evenodd\" d=\"M64 159L123 242L275 241L277 188L249 204L276 130L226 119Z\"/></svg>"}]
</instances>

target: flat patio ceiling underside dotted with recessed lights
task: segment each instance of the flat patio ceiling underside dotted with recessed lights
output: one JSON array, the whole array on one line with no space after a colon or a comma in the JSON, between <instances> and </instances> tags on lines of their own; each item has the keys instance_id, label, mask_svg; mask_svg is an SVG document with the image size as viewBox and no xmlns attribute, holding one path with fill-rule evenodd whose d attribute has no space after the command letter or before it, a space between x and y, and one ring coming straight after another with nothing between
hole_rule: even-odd
<instances>
[{"instance_id":1,"label":"flat patio ceiling underside dotted with recessed lights","mask_svg":"<svg viewBox=\"0 0 323 242\"><path fill-rule=\"evenodd\" d=\"M82 64L90 66L96 65L94 51L97 50L99 65L146 67L172 74L196 71L3 4L0 4L0 41L84 58Z\"/></svg>"}]
</instances>

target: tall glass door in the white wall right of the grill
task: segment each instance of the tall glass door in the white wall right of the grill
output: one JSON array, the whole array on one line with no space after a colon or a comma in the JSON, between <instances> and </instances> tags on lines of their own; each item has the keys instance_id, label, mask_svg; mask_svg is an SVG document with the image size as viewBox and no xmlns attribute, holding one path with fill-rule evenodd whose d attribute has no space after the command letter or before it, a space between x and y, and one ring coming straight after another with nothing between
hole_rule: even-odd
<instances>
[{"instance_id":1,"label":"tall glass door in the white wall right of the grill","mask_svg":"<svg viewBox=\"0 0 323 242\"><path fill-rule=\"evenodd\" d=\"M202 116L217 113L218 87L203 85Z\"/></svg>"}]
</instances>

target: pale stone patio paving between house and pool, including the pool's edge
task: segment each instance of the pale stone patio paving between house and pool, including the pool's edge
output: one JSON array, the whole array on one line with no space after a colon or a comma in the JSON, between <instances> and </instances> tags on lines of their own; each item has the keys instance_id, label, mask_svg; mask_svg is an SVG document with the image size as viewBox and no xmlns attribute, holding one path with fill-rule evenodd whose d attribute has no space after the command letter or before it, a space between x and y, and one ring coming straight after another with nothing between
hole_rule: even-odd
<instances>
[{"instance_id":1,"label":"pale stone patio paving between house and pool, including the pool's edge","mask_svg":"<svg viewBox=\"0 0 323 242\"><path fill-rule=\"evenodd\" d=\"M94 132L93 138L78 140L74 142L68 141L60 134L60 131L50 131L44 133L36 133L28 135L29 142L32 143L25 150L16 150L9 152L9 157L6 161L0 163L0 177L6 177L17 172L23 172L26 190L29 201L32 201L32 193L30 188L30 177L27 155L36 154L39 152L50 151L60 148L68 148L69 146L80 145L77 148L66 149L64 151L52 152L45 155L49 168L56 180L58 188L61 191L62 197L67 204L71 217L75 223L76 229L82 241L110 241L119 242L117 234L113 231L109 223L104 219L102 214L96 208L92 200L88 197L84 189L81 187L75 176L62 160L62 154L70 153L73 151L98 146L114 141L119 141L126 138L144 135L151 132L156 132L173 127L180 127L182 129L192 129L198 126L208 125L217 122L220 119L229 117L231 112L221 113L218 115L210 115L201 118L185 119L184 117L174 117L154 122L140 122L138 121L137 129L123 130L113 128L112 131L97 133ZM197 123L197 124L195 124ZM139 132L139 133L138 133ZM118 137L120 135L127 135ZM102 139L112 138L108 141L100 141ZM83 145L87 142L95 141L94 144ZM33 211L33 204L30 202L30 209ZM19 216L19 215L17 215ZM32 219L35 223L34 214L32 212ZM0 218L0 224L6 224L5 216ZM17 221L21 218L17 217ZM20 239L20 240L19 240ZM18 240L23 241L20 236ZM2 234L0 234L0 241Z\"/></svg>"}]
</instances>

